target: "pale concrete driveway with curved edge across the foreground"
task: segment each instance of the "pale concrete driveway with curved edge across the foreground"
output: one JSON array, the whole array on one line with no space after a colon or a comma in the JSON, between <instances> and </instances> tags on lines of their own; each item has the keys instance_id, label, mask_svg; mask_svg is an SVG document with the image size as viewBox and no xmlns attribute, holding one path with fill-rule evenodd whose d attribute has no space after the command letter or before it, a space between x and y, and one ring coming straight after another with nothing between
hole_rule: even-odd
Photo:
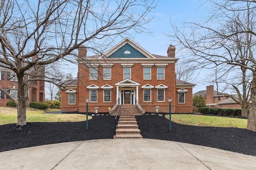
<instances>
[{"instance_id":1,"label":"pale concrete driveway with curved edge across the foreground","mask_svg":"<svg viewBox=\"0 0 256 170\"><path fill-rule=\"evenodd\" d=\"M155 139L104 139L0 152L1 170L256 170L256 157Z\"/></svg>"}]
</instances>

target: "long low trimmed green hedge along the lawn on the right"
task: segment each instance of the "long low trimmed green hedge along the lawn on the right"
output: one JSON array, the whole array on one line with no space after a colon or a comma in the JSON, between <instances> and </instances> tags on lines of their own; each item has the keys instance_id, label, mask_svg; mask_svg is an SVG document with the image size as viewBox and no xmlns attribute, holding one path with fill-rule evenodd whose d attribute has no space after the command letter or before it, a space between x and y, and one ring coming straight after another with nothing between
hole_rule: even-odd
<instances>
[{"instance_id":1,"label":"long low trimmed green hedge along the lawn on the right","mask_svg":"<svg viewBox=\"0 0 256 170\"><path fill-rule=\"evenodd\" d=\"M202 114L210 114L210 115L222 115L222 116L241 116L241 109L221 109L221 108L209 108L209 107L201 107L198 111Z\"/></svg>"}]
</instances>

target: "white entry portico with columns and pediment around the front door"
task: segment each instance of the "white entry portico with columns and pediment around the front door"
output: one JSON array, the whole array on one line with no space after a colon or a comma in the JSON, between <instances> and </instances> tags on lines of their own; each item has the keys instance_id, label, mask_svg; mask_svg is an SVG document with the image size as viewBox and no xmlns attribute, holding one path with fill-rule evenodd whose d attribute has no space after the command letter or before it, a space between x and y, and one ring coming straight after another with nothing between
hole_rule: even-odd
<instances>
[{"instance_id":1,"label":"white entry portico with columns and pediment around the front door","mask_svg":"<svg viewBox=\"0 0 256 170\"><path fill-rule=\"evenodd\" d=\"M138 82L130 79L122 80L115 84L116 86L116 101L117 104L136 104L139 96ZM119 99L119 100L118 100Z\"/></svg>"}]
</instances>

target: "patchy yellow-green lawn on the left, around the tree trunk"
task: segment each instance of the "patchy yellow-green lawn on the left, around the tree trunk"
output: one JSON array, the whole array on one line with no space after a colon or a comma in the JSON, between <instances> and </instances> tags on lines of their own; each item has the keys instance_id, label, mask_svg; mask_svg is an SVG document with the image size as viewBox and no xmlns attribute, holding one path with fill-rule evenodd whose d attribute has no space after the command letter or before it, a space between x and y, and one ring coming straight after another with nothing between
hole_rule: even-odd
<instances>
[{"instance_id":1,"label":"patchy yellow-green lawn on the left, around the tree trunk","mask_svg":"<svg viewBox=\"0 0 256 170\"><path fill-rule=\"evenodd\" d=\"M47 110L60 111L60 109ZM44 110L27 109L26 111L27 122L76 122L86 121L86 115L82 114L51 114L45 113ZM88 116L88 120L92 119ZM17 109L0 107L0 125L17 123Z\"/></svg>"}]
</instances>

